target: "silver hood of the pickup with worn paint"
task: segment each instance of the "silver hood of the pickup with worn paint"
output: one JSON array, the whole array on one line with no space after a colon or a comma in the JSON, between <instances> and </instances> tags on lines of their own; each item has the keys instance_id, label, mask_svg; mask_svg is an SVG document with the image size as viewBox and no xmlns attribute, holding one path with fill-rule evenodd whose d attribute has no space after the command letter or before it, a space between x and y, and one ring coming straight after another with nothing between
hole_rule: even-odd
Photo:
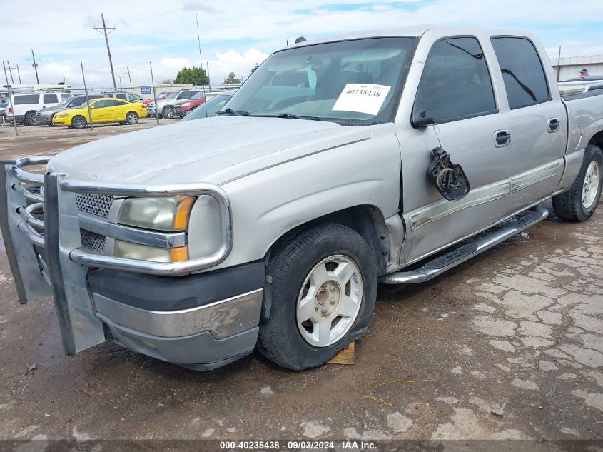
<instances>
[{"instance_id":1,"label":"silver hood of the pickup with worn paint","mask_svg":"<svg viewBox=\"0 0 603 452\"><path fill-rule=\"evenodd\" d=\"M219 116L91 141L54 156L47 171L85 181L224 184L372 133L327 121Z\"/></svg>"}]
</instances>

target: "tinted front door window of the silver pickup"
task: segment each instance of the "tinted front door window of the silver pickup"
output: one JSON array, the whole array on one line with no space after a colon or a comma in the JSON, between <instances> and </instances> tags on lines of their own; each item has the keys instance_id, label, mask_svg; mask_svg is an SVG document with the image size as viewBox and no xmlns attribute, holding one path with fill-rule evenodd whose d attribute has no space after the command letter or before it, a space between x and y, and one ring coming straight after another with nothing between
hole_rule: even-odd
<instances>
[{"instance_id":1,"label":"tinted front door window of the silver pickup","mask_svg":"<svg viewBox=\"0 0 603 452\"><path fill-rule=\"evenodd\" d=\"M492 80L477 39L450 38L433 44L413 109L436 124L495 113Z\"/></svg>"}]
</instances>

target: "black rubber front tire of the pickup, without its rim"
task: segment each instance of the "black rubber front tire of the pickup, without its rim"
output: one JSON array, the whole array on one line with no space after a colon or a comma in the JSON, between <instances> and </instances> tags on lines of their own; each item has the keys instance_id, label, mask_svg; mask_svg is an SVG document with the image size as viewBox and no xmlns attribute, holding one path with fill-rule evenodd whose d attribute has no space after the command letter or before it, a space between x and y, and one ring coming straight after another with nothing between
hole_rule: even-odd
<instances>
[{"instance_id":1,"label":"black rubber front tire of the pickup, without its rim","mask_svg":"<svg viewBox=\"0 0 603 452\"><path fill-rule=\"evenodd\" d=\"M286 248L284 251L285 253L281 254L286 258L288 255ZM305 341L298 330L296 318L298 294L312 268L324 258L337 254L350 258L358 266L363 278L363 300L353 326L339 341L330 346L315 347ZM282 265L280 262L275 262L275 265L279 264ZM269 323L278 327L283 353L292 364L288 367L311 368L329 361L338 351L365 333L373 315L377 296L377 266L373 253L363 238L349 228L340 228L336 233L324 233L319 236L314 243L304 249L303 253L290 261L280 286L272 291Z\"/></svg>"}]
</instances>

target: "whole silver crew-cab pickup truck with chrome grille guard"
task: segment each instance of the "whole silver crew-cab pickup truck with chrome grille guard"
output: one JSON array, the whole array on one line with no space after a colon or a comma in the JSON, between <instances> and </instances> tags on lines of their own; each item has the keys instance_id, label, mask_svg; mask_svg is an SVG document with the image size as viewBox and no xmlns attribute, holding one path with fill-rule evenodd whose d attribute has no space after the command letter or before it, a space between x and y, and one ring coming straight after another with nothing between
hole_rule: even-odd
<instances>
[{"instance_id":1,"label":"whole silver crew-cab pickup truck with chrome grille guard","mask_svg":"<svg viewBox=\"0 0 603 452\"><path fill-rule=\"evenodd\" d=\"M440 275L547 199L592 216L603 89L554 80L523 31L301 41L215 118L3 161L19 300L53 296L69 354L111 340L199 370L255 348L318 366L363 336L378 282Z\"/></svg>"}]
</instances>

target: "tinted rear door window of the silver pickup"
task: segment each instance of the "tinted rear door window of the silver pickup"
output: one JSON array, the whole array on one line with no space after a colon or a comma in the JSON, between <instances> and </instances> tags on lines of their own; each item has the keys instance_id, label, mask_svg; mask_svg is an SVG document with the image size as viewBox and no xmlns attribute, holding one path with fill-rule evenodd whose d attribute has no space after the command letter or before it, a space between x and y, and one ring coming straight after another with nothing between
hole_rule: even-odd
<instances>
[{"instance_id":1,"label":"tinted rear door window of the silver pickup","mask_svg":"<svg viewBox=\"0 0 603 452\"><path fill-rule=\"evenodd\" d=\"M525 38L492 38L510 109L551 100L547 77L534 44Z\"/></svg>"}]
</instances>

